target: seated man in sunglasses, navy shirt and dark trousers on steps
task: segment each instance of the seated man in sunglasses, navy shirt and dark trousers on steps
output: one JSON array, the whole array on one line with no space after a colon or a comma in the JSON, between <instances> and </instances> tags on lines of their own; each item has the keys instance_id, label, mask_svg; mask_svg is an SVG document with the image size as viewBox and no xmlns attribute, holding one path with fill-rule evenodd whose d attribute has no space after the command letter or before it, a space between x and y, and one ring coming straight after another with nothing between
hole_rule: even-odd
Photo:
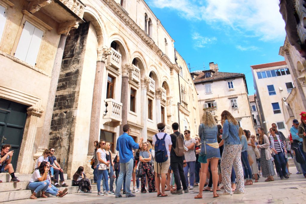
<instances>
[{"instance_id":1,"label":"seated man in sunglasses, navy shirt and dark trousers on steps","mask_svg":"<svg viewBox=\"0 0 306 204\"><path fill-rule=\"evenodd\" d=\"M60 185L58 184L58 175L59 175L60 178L61 178L62 187L68 187L68 185L65 184L63 169L58 164L58 162L56 161L56 157L54 156L55 149L53 147L51 147L49 150L50 150L50 156L48 157L48 160L50 162L51 169L53 168L53 172L54 172L54 180L52 180L52 181L55 182L54 186L57 187L57 188L60 187Z\"/></svg>"}]
</instances>

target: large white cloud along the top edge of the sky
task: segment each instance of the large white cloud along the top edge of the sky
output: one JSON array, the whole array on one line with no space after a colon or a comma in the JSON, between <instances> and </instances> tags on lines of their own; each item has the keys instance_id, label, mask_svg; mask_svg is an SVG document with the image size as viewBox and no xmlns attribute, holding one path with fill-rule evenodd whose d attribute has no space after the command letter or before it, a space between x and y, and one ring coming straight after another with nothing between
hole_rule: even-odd
<instances>
[{"instance_id":1,"label":"large white cloud along the top edge of the sky","mask_svg":"<svg viewBox=\"0 0 306 204\"><path fill-rule=\"evenodd\" d=\"M151 6L177 10L189 20L204 20L239 35L263 41L284 40L285 22L279 0L151 0Z\"/></svg>"}]
</instances>

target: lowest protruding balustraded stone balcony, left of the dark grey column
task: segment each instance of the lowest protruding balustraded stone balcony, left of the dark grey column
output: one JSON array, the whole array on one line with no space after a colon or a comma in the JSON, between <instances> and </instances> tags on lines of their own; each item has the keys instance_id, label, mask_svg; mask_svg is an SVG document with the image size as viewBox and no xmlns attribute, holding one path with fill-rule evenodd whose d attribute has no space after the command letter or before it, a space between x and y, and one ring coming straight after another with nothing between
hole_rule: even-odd
<instances>
[{"instance_id":1,"label":"lowest protruding balustraded stone balcony, left of the dark grey column","mask_svg":"<svg viewBox=\"0 0 306 204\"><path fill-rule=\"evenodd\" d=\"M107 98L105 102L105 114L103 120L105 124L117 127L122 122L122 103L115 101L113 98Z\"/></svg>"}]
</instances>

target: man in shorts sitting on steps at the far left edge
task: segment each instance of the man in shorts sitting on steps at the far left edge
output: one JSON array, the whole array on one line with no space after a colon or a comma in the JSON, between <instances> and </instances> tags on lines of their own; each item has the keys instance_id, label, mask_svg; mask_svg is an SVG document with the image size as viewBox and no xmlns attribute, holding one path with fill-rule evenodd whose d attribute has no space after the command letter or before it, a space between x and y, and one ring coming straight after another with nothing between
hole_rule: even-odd
<instances>
[{"instance_id":1,"label":"man in shorts sitting on steps at the far left edge","mask_svg":"<svg viewBox=\"0 0 306 204\"><path fill-rule=\"evenodd\" d=\"M1 148L1 154L0 154L0 173L4 173L7 170L9 170L9 174L11 175L12 179L11 182L19 182L17 177L15 176L15 172L13 169L13 165L11 164L12 157L14 154L13 151L9 151L11 149L11 146L9 144L3 145ZM2 181L0 180L0 183Z\"/></svg>"}]
</instances>

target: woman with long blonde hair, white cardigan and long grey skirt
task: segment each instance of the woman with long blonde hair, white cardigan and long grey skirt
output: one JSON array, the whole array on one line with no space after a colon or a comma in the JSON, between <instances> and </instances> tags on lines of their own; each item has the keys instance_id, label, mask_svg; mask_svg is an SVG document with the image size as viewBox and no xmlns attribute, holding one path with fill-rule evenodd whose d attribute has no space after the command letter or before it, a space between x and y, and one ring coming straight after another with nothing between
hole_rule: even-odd
<instances>
[{"instance_id":1,"label":"woman with long blonde hair, white cardigan and long grey skirt","mask_svg":"<svg viewBox=\"0 0 306 204\"><path fill-rule=\"evenodd\" d=\"M263 177L268 177L265 181L274 181L275 175L272 156L270 153L270 142L267 135L264 134L263 128L258 128L259 134L257 148L260 149L260 166Z\"/></svg>"}]
</instances>

